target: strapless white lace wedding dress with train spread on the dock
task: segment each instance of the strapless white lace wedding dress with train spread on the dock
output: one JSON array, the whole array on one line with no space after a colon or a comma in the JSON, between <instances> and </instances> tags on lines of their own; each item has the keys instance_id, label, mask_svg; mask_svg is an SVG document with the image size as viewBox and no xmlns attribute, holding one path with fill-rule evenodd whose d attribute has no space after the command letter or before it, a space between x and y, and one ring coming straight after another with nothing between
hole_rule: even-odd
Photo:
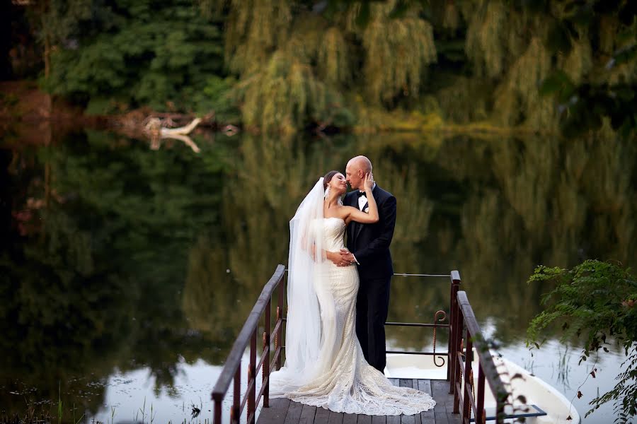
<instances>
[{"instance_id":1,"label":"strapless white lace wedding dress with train spread on the dock","mask_svg":"<svg viewBox=\"0 0 637 424\"><path fill-rule=\"evenodd\" d=\"M338 252L344 247L342 219L315 218L309 227L322 239L317 242L322 249ZM320 311L318 353L311 356L308 352L302 361L303 367L296 370L284 367L280 372L273 372L272 397L285 396L330 411L366 415L412 415L433 408L435 401L429 394L394 386L365 360L356 336L357 268L339 267L323 260L315 265L309 279ZM308 320L311 310L303 312L302 317L297 315L298 319ZM288 324L291 324L289 314ZM306 379L302 378L304 375ZM302 385L295 387L294 384Z\"/></svg>"}]
</instances>

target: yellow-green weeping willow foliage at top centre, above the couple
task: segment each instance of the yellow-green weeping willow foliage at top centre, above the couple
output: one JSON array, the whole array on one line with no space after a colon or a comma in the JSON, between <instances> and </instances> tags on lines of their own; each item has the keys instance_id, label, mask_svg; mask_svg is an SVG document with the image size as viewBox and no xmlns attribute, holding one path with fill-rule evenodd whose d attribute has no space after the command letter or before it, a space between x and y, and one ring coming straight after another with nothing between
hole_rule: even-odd
<instances>
[{"instance_id":1,"label":"yellow-green weeping willow foliage at top centre, above the couple","mask_svg":"<svg viewBox=\"0 0 637 424\"><path fill-rule=\"evenodd\" d=\"M436 58L432 26L419 6L391 18L396 3L320 13L303 1L200 1L206 11L227 13L226 66L239 78L243 122L286 132L351 126L358 93L391 108L418 97ZM367 13L369 24L358 25Z\"/></svg>"}]
</instances>

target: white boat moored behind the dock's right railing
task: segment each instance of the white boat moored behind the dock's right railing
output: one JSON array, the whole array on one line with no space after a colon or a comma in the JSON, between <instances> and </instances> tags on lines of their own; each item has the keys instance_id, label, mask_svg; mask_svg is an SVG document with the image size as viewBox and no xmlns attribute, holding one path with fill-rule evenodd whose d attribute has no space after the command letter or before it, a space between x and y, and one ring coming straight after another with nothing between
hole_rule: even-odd
<instances>
[{"instance_id":1,"label":"white boat moored behind the dock's right railing","mask_svg":"<svg viewBox=\"0 0 637 424\"><path fill-rule=\"evenodd\" d=\"M473 356L472 369L478 370L478 355L475 351ZM432 355L388 354L385 376L408 379L447 379L446 359L442 367L437 367L433 358ZM526 418L525 423L528 424L581 423L580 414L575 410L575 406L550 384L510 360L499 358L498 355L493 355L493 361L505 387L510 388L513 398L512 406L505 407L505 413L511 417L505 420L505 423L513 423L516 418L522 416ZM440 363L440 359L438 362ZM524 403L517 399L520 395L524 396ZM488 389L488 383L484 407L486 420L495 419L495 398ZM471 416L473 417L473 414Z\"/></svg>"}]
</instances>

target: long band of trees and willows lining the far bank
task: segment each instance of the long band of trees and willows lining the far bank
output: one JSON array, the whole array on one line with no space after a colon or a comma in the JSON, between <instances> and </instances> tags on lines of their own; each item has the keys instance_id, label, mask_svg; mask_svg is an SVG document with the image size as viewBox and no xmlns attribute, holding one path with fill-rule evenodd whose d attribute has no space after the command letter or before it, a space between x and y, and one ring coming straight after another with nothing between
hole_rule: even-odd
<instances>
[{"instance_id":1,"label":"long band of trees and willows lining the far bank","mask_svg":"<svg viewBox=\"0 0 637 424\"><path fill-rule=\"evenodd\" d=\"M30 13L52 45L48 86L91 112L236 107L272 131L379 129L398 110L420 126L569 135L636 124L629 0L42 4Z\"/></svg>"}]
</instances>

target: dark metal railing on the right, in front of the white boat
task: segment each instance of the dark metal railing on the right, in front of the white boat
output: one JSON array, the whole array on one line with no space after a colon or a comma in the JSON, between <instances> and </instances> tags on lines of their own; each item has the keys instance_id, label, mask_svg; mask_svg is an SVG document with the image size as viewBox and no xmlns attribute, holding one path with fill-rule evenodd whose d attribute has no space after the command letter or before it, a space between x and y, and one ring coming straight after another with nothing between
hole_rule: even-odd
<instances>
[{"instance_id":1,"label":"dark metal railing on the right, in front of the white boat","mask_svg":"<svg viewBox=\"0 0 637 424\"><path fill-rule=\"evenodd\" d=\"M454 290L453 287L452 290ZM449 372L453 376L449 381L449 393L454 394L454 413L460 413L462 422L469 424L471 411L473 411L475 422L485 423L484 383L486 380L495 397L495 423L503 423L504 406L509 394L496 370L493 357L490 355L466 293L458 291L457 287L455 290L457 295L452 296L454 302L452 302L452 327L449 338L449 351L453 352L455 357L449 358ZM478 355L477 389L472 369L474 348ZM461 411L460 404L462 404Z\"/></svg>"}]
</instances>

